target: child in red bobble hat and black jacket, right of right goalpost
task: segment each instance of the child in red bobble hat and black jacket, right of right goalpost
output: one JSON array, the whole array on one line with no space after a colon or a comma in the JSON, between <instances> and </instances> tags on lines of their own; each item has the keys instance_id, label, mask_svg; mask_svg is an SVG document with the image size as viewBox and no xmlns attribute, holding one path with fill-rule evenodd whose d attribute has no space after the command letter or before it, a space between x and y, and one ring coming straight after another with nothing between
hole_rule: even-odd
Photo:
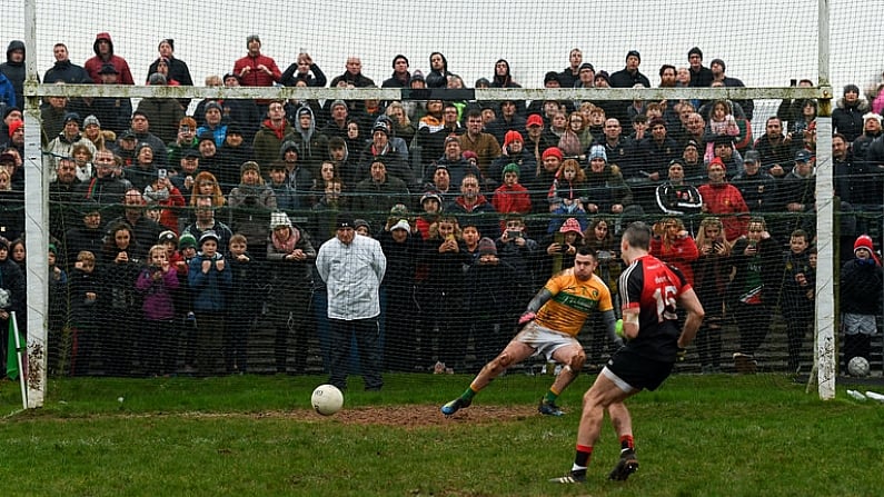
<instances>
[{"instance_id":1,"label":"child in red bobble hat and black jacket, right of right goalpost","mask_svg":"<svg viewBox=\"0 0 884 497\"><path fill-rule=\"evenodd\" d=\"M872 238L861 235L853 245L854 259L841 269L841 320L844 331L842 371L854 357L872 355L872 335L877 332L876 316L881 316L878 291L884 274L875 256Z\"/></svg>"}]
</instances>

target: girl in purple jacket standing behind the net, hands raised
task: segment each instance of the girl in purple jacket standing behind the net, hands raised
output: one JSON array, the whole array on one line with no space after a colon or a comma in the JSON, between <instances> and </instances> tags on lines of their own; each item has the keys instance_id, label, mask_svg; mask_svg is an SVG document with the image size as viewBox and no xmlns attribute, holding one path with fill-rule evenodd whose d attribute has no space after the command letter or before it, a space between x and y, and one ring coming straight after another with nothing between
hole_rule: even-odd
<instances>
[{"instance_id":1,"label":"girl in purple jacket standing behind the net, hands raised","mask_svg":"<svg viewBox=\"0 0 884 497\"><path fill-rule=\"evenodd\" d=\"M148 251L148 265L138 275L136 289L142 295L145 319L138 337L139 364L145 376L175 372L175 302L178 272L169 264L166 247L155 245Z\"/></svg>"}]
</instances>

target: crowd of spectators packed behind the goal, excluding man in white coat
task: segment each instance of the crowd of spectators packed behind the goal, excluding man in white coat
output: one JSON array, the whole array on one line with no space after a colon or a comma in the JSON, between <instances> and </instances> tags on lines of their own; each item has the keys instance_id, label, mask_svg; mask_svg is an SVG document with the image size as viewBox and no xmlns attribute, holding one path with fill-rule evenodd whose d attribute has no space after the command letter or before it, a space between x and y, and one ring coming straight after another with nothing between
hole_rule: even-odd
<instances>
[{"instance_id":1,"label":"crowd of spectators packed behind the goal, excluding man in white coat","mask_svg":"<svg viewBox=\"0 0 884 497\"><path fill-rule=\"evenodd\" d=\"M57 43L43 82L135 85L109 33L99 33L93 49L78 66ZM247 37L246 50L206 86L377 86L357 57L329 81L308 53L280 70L260 37ZM20 326L24 59L24 43L13 40L0 64L0 287L10 291L4 309L17 310ZM379 87L467 87L443 53L427 62L424 72L395 56ZM629 51L623 68L596 71L575 48L563 70L544 74L544 87L744 86L725 73L725 61L704 66L696 47L686 66L663 64L654 83L640 63L640 53ZM522 88L506 60L491 72L474 87ZM159 42L143 81L193 85L173 40ZM832 116L840 241L843 262L854 266L863 250L863 261L877 260L882 88L846 86ZM706 307L698 338L704 371L721 369L729 316L741 330L739 370L756 367L774 310L788 321L789 370L809 357L803 340L815 307L814 100L785 100L764 117L752 100L193 103L44 99L50 339L69 344L50 358L53 372L241 372L249 369L249 336L260 329L274 332L270 370L302 372L314 335L327 362L328 302L315 260L341 223L377 239L387 260L384 370L484 364L506 344L538 286L572 266L582 245L597 251L596 271L616 298L617 233L635 220L654 223L652 252L682 269ZM765 121L759 137L754 119ZM873 238L860 243L862 233ZM880 280L880 264L858 265L866 266ZM862 311L880 315L880 305L875 299ZM590 328L598 330L589 362L600 364L604 334ZM467 359L470 342L475 361Z\"/></svg>"}]
</instances>

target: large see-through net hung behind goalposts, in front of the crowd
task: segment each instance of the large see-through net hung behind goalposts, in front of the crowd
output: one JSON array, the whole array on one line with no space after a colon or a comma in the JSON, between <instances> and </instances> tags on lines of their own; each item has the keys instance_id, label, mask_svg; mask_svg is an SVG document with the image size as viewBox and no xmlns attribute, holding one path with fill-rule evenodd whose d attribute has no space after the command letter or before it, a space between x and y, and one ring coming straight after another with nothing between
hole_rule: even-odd
<instances>
[{"instance_id":1,"label":"large see-through net hung behind goalposts, in front of the crowd","mask_svg":"<svg viewBox=\"0 0 884 497\"><path fill-rule=\"evenodd\" d=\"M644 221L707 312L678 371L809 372L814 330L835 316L816 312L816 290L834 309L854 241L880 248L883 191L864 118L881 68L853 37L827 57L817 44L823 26L872 21L860 2L831 2L825 22L816 7L10 6L0 26L33 43L41 81L20 82L30 66L11 41L0 229L18 327L47 330L49 376L329 375L337 361L417 384L478 371L582 245L619 315L618 236ZM833 157L838 139L848 156ZM335 257L349 228L379 241L383 276L359 266L367 252ZM376 301L335 294L373 278ZM373 339L337 336L340 318L368 317ZM583 328L597 371L614 346L596 312ZM880 337L848 336L834 360L880 371Z\"/></svg>"}]
</instances>

